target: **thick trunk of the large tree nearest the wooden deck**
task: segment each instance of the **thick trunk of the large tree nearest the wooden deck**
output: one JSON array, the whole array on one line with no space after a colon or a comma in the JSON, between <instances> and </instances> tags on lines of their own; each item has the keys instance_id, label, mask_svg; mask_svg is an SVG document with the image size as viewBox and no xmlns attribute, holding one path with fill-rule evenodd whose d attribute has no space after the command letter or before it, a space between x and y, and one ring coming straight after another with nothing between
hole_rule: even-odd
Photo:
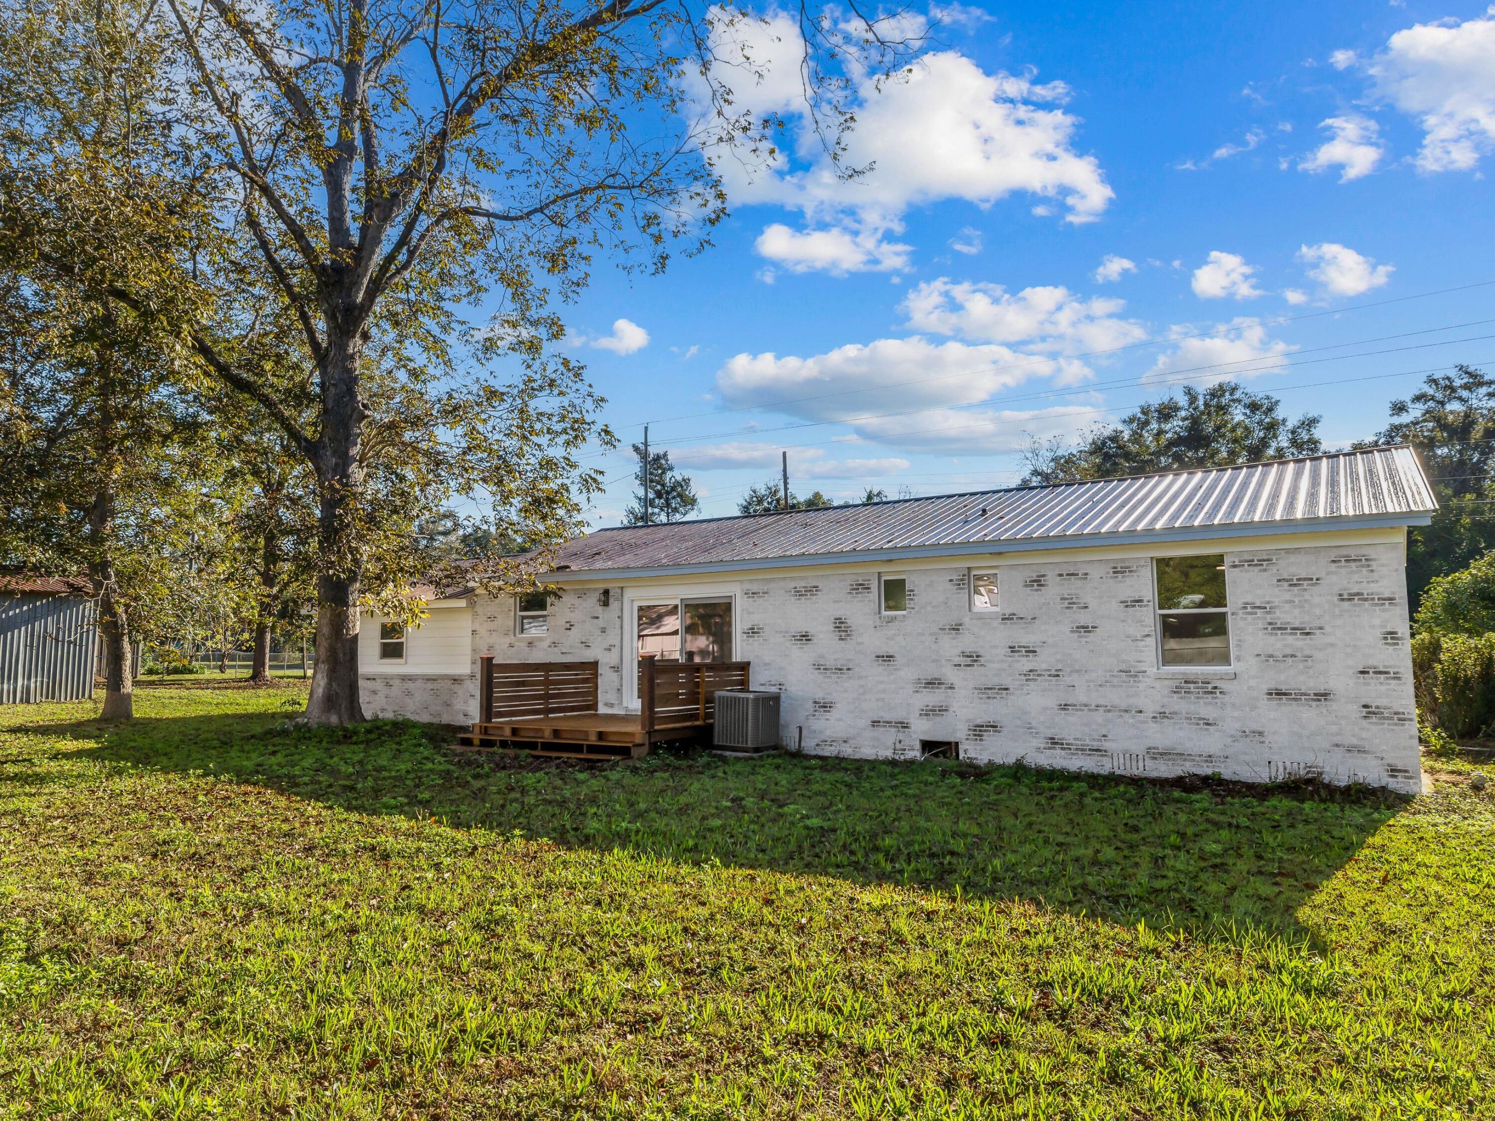
<instances>
[{"instance_id":1,"label":"thick trunk of the large tree nearest the wooden deck","mask_svg":"<svg viewBox=\"0 0 1495 1121\"><path fill-rule=\"evenodd\" d=\"M359 587L363 541L354 525L363 465L363 404L359 401L360 330L335 329L329 315L323 371L321 436L317 441L320 510L317 537L321 572L317 577L317 667L306 700L306 720L315 725L362 723L359 701Z\"/></svg>"}]
</instances>

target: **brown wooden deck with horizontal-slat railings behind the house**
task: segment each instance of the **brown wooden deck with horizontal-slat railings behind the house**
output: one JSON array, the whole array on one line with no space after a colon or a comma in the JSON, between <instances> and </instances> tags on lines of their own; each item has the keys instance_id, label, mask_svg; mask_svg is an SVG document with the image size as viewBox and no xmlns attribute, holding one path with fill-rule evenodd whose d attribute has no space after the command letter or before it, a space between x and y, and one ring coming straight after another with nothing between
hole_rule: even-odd
<instances>
[{"instance_id":1,"label":"brown wooden deck with horizontal-slat railings behind the house","mask_svg":"<svg viewBox=\"0 0 1495 1121\"><path fill-rule=\"evenodd\" d=\"M637 713L597 705L597 662L493 662L478 670L480 719L457 750L528 750L573 758L637 759L656 743L695 740L716 720L716 692L746 689L748 662L638 665Z\"/></svg>"}]
</instances>

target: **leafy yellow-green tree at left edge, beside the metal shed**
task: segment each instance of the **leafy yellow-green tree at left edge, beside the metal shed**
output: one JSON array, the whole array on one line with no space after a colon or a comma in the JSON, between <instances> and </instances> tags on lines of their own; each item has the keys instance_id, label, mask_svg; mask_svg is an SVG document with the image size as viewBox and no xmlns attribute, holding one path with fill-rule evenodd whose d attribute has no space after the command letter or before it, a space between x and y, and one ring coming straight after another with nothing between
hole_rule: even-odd
<instances>
[{"instance_id":1,"label":"leafy yellow-green tree at left edge, beside the metal shed","mask_svg":"<svg viewBox=\"0 0 1495 1121\"><path fill-rule=\"evenodd\" d=\"M0 19L0 558L88 572L105 717L133 711L132 643L182 587L172 556L215 474L178 269L209 200L160 111L167 69L132 4Z\"/></svg>"}]
</instances>

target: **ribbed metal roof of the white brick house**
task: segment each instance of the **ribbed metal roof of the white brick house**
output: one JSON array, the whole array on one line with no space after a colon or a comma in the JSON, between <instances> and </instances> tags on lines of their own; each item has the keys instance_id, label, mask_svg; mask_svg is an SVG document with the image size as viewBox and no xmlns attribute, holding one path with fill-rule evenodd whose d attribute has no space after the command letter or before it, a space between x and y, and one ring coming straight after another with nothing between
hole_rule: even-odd
<instances>
[{"instance_id":1,"label":"ribbed metal roof of the white brick house","mask_svg":"<svg viewBox=\"0 0 1495 1121\"><path fill-rule=\"evenodd\" d=\"M978 490L821 510L599 529L570 541L556 577L939 556L966 546L1049 549L1112 541L1422 525L1438 508L1410 447ZM966 552L984 552L967 549Z\"/></svg>"}]
</instances>

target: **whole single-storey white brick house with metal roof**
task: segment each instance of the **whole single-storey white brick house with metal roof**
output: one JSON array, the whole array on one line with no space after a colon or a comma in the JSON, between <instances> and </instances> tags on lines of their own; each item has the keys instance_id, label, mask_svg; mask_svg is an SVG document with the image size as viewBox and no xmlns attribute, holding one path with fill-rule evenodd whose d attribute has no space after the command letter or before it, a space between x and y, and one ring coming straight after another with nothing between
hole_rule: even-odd
<instances>
[{"instance_id":1,"label":"whole single-storey white brick house with metal roof","mask_svg":"<svg viewBox=\"0 0 1495 1121\"><path fill-rule=\"evenodd\" d=\"M597 661L629 711L647 649L749 661L806 752L1417 791L1405 534L1434 508L1378 448L598 531L550 599L432 602L398 646L368 619L363 705L468 723L492 655Z\"/></svg>"}]
</instances>

